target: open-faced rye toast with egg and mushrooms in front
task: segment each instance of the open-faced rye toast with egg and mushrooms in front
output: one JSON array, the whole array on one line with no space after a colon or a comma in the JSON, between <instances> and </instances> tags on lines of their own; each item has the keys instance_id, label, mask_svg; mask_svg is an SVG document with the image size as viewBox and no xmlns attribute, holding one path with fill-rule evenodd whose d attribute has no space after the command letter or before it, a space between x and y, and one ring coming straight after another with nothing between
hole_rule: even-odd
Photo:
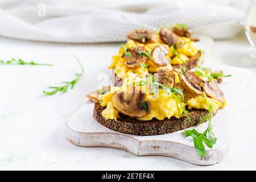
<instances>
[{"instance_id":1,"label":"open-faced rye toast with egg and mushrooms in front","mask_svg":"<svg viewBox=\"0 0 256 182\"><path fill-rule=\"evenodd\" d=\"M199 76L200 75L200 76ZM160 135L199 125L225 106L218 82L203 69L159 69L122 86L90 93L93 116L105 127L134 135ZM210 111L210 112L209 112Z\"/></svg>"}]
</instances>

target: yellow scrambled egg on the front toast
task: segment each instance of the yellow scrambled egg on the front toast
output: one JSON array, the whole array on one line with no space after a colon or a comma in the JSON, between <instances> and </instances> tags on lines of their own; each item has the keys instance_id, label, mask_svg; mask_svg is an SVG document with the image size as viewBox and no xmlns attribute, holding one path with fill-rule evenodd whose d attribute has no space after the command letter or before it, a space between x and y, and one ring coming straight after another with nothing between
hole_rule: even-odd
<instances>
[{"instance_id":1,"label":"yellow scrambled egg on the front toast","mask_svg":"<svg viewBox=\"0 0 256 182\"><path fill-rule=\"evenodd\" d=\"M179 82L178 79L179 78L175 75L175 80ZM119 118L118 111L115 110L112 105L113 94L118 90L127 92L127 90L129 90L130 84L133 84L134 82L138 82L140 80L142 80L142 78L126 78L125 80L123 80L123 85L121 87L112 86L110 88L110 92L100 95L101 106L106 107L104 111L102 111L102 115L106 119L115 119L116 121L117 118ZM139 120L148 121L152 118L156 118L158 120L163 120L164 118L171 117L180 118L183 114L183 109L181 108L179 102L174 97L172 97L172 95L169 96L166 92L164 92L163 89L160 89L158 94L154 95L148 92L148 89L145 85L142 85L140 88L143 90L143 92L146 93L145 100L150 102L151 111L148 115L139 118ZM213 98L209 98L209 103L213 106L213 111L216 111L217 109L225 106L225 102L222 104L221 102L214 100ZM187 102L183 102L181 99L181 105L183 107L188 106L188 109L196 108L208 110L207 101L205 100L203 94L189 98Z\"/></svg>"}]
</instances>

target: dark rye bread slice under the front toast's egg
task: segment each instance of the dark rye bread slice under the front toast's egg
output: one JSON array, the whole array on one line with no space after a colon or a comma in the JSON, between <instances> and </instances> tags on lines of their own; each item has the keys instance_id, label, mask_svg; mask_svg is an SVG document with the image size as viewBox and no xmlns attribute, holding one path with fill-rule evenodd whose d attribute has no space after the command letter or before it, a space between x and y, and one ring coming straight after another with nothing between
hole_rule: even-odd
<instances>
[{"instance_id":1,"label":"dark rye bread slice under the front toast's egg","mask_svg":"<svg viewBox=\"0 0 256 182\"><path fill-rule=\"evenodd\" d=\"M173 133L178 130L184 130L188 127L199 125L201 119L209 114L208 110L204 109L189 110L188 115L191 118L190 122L184 114L179 119L171 117L163 121L159 121L155 118L150 121L138 121L127 115L119 114L120 118L115 121L114 119L105 119L101 114L103 110L104 107L101 107L100 104L94 104L93 117L100 122L101 125L121 133L147 136ZM212 117L214 114L212 114Z\"/></svg>"}]
</instances>

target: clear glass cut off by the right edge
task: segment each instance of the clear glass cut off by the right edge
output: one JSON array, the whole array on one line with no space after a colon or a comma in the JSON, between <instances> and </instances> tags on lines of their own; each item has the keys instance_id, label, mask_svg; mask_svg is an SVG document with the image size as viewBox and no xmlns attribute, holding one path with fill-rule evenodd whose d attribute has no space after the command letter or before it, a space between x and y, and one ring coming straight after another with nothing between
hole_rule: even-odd
<instances>
[{"instance_id":1,"label":"clear glass cut off by the right edge","mask_svg":"<svg viewBox=\"0 0 256 182\"><path fill-rule=\"evenodd\" d=\"M256 62L256 0L247 0L245 9L245 34L253 51L250 52L250 59Z\"/></svg>"}]
</instances>

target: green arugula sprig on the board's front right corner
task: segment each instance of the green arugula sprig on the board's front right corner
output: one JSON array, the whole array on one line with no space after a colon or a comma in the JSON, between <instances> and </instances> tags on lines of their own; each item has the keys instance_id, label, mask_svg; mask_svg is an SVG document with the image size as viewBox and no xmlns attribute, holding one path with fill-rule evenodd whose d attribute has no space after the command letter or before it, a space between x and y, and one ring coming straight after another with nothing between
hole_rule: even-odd
<instances>
[{"instance_id":1,"label":"green arugula sprig on the board's front right corner","mask_svg":"<svg viewBox=\"0 0 256 182\"><path fill-rule=\"evenodd\" d=\"M200 122L204 122L205 120L209 119L208 127L204 131L204 133L199 133L195 129L185 130L185 132L184 132L185 137L193 138L193 142L194 142L196 151L201 157L205 157L207 155L206 151L205 151L204 144L206 144L209 148L212 148L213 144L215 144L217 141L217 138L214 136L214 133L212 131L212 121L211 121L212 114L211 113L212 113L213 107L212 107L212 105L209 104L209 99L208 99L207 95L205 94L205 92L203 94L204 94L205 100L207 101L207 108L209 110L209 115L207 115L206 117L201 119Z\"/></svg>"}]
</instances>

